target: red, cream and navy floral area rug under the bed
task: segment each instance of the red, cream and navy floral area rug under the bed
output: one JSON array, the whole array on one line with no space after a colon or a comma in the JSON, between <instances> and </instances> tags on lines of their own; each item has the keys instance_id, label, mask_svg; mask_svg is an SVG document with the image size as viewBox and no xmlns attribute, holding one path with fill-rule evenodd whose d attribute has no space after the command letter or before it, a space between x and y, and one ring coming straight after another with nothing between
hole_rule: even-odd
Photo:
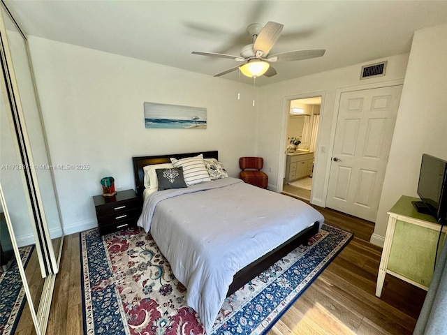
<instances>
[{"instance_id":1,"label":"red, cream and navy floral area rug under the bed","mask_svg":"<svg viewBox=\"0 0 447 335\"><path fill-rule=\"evenodd\" d=\"M266 333L352 237L323 225L309 246L228 297L212 335ZM129 228L102 241L94 229L80 233L80 244L85 334L205 334L150 234Z\"/></svg>"}]
</instances>

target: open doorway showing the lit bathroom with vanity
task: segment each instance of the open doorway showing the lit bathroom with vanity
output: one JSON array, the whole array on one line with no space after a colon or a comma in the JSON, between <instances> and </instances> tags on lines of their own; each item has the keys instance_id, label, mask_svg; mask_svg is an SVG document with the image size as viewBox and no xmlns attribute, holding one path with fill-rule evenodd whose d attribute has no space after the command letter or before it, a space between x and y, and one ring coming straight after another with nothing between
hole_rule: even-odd
<instances>
[{"instance_id":1,"label":"open doorway showing the lit bathroom with vanity","mask_svg":"<svg viewBox=\"0 0 447 335\"><path fill-rule=\"evenodd\" d=\"M310 201L321 96L289 103L283 192Z\"/></svg>"}]
</instances>

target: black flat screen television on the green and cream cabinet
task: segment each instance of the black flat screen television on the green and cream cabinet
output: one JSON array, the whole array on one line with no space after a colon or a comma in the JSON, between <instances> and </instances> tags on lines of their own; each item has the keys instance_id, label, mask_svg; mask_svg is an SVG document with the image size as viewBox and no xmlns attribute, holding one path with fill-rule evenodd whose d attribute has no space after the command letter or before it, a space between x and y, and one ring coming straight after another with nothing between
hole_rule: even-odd
<instances>
[{"instance_id":1,"label":"black flat screen television on the green and cream cabinet","mask_svg":"<svg viewBox=\"0 0 447 335\"><path fill-rule=\"evenodd\" d=\"M422 155L418 181L420 202L414 202L419 212L431 214L439 223L447 221L447 162ZM422 203L421 203L422 202Z\"/></svg>"}]
</instances>

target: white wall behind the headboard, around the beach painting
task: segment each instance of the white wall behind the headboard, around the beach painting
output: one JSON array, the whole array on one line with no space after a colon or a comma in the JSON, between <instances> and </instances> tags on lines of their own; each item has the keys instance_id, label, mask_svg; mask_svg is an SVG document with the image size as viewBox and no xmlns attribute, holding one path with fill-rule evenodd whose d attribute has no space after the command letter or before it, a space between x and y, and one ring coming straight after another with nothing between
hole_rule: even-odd
<instances>
[{"instance_id":1,"label":"white wall behind the headboard, around the beach painting","mask_svg":"<svg viewBox=\"0 0 447 335\"><path fill-rule=\"evenodd\" d=\"M96 224L92 195L102 177L135 188L131 157L219 150L230 176L254 154L251 85L29 36L31 59L54 165L64 232ZM147 129L143 103L207 108L207 129Z\"/></svg>"}]
</instances>

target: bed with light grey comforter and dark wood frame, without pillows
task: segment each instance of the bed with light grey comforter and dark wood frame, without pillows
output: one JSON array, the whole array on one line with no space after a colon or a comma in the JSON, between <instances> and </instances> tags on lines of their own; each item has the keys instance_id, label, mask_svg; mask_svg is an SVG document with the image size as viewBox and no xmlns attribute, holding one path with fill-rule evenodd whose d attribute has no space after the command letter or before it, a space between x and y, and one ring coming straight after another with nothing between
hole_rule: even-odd
<instances>
[{"instance_id":1,"label":"bed with light grey comforter and dark wood frame, without pillows","mask_svg":"<svg viewBox=\"0 0 447 335\"><path fill-rule=\"evenodd\" d=\"M148 191L145 167L199 155L219 159L217 151L133 157L138 195ZM232 177L152 191L144 198L137 224L150 230L207 333L226 296L307 244L324 219L305 202Z\"/></svg>"}]
</instances>

